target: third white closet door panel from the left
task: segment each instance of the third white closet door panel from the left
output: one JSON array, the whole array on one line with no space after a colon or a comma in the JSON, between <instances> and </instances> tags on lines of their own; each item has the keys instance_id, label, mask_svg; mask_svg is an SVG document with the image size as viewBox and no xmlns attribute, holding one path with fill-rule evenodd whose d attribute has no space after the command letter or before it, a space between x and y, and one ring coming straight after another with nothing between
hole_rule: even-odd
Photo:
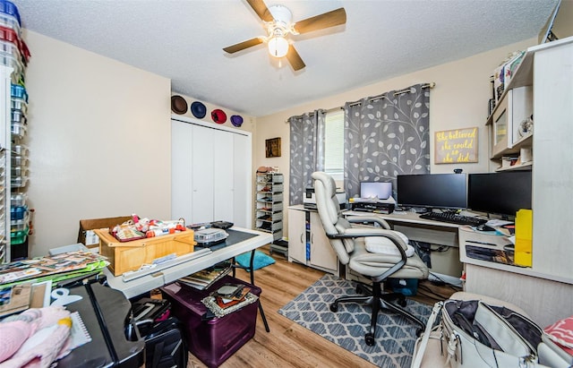
<instances>
[{"instance_id":1,"label":"third white closet door panel from the left","mask_svg":"<svg viewBox=\"0 0 573 368\"><path fill-rule=\"evenodd\" d=\"M233 136L234 133L225 131L213 130L213 138L215 144L212 145L213 150L213 216L215 220L231 221L234 222L234 200L233 197L235 189L234 173L234 158L235 153Z\"/></svg>"}]
</instances>

